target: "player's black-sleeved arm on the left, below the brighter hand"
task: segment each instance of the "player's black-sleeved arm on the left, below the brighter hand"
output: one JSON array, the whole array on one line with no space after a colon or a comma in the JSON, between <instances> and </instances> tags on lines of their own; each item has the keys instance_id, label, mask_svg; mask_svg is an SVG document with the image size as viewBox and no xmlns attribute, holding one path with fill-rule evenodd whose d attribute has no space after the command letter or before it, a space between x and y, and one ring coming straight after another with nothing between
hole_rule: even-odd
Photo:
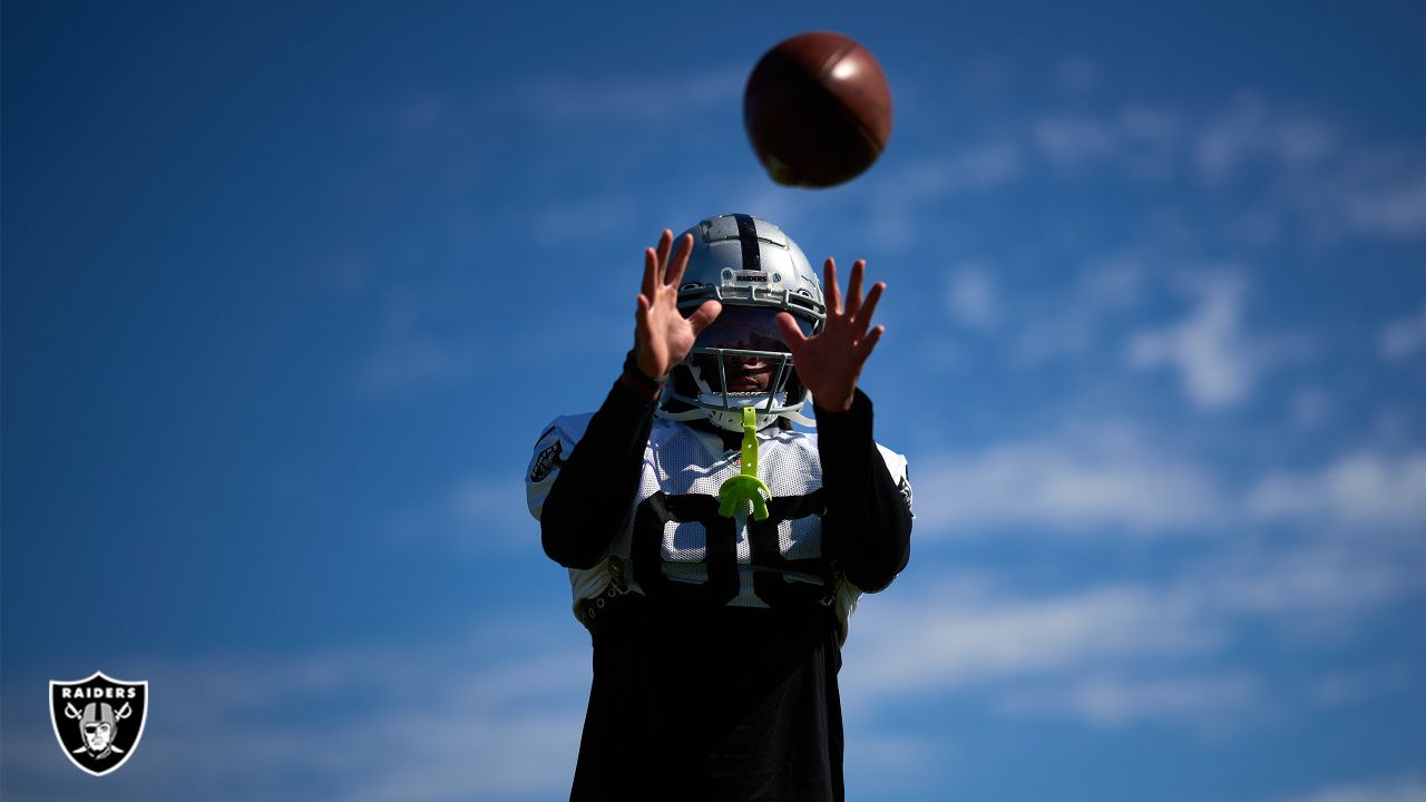
<instances>
[{"instance_id":1,"label":"player's black-sleeved arm on the left, below the brighter hand","mask_svg":"<svg viewBox=\"0 0 1426 802\"><path fill-rule=\"evenodd\" d=\"M616 381L555 477L540 514L540 541L555 562L593 568L623 531L639 488L655 398Z\"/></svg>"}]
</instances>

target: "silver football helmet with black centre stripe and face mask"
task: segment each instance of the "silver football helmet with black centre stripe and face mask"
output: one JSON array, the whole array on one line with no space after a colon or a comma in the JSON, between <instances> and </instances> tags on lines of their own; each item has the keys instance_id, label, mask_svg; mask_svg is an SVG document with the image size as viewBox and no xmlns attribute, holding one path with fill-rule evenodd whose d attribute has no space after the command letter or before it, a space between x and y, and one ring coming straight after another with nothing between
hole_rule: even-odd
<instances>
[{"instance_id":1,"label":"silver football helmet with black centre stripe and face mask","mask_svg":"<svg viewBox=\"0 0 1426 802\"><path fill-rule=\"evenodd\" d=\"M779 417L813 425L801 415L811 394L773 324L790 313L807 337L826 324L821 283L807 257L781 228L747 214L710 217L686 233L693 234L693 253L679 310L687 315L717 300L723 311L673 368L660 415L706 418L740 432L743 408L754 407L759 430Z\"/></svg>"}]
</instances>

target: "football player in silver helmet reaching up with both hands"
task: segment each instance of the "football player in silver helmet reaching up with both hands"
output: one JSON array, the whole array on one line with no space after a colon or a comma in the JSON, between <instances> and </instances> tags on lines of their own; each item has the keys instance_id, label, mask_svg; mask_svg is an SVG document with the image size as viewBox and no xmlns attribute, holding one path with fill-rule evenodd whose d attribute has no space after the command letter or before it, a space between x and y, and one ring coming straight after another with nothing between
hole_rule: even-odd
<instances>
[{"instance_id":1,"label":"football player in silver helmet reaching up with both hands","mask_svg":"<svg viewBox=\"0 0 1426 802\"><path fill-rule=\"evenodd\" d=\"M843 297L746 214L665 230L609 395L540 434L530 512L593 641L570 799L843 799L841 644L911 535L864 273Z\"/></svg>"}]
</instances>

